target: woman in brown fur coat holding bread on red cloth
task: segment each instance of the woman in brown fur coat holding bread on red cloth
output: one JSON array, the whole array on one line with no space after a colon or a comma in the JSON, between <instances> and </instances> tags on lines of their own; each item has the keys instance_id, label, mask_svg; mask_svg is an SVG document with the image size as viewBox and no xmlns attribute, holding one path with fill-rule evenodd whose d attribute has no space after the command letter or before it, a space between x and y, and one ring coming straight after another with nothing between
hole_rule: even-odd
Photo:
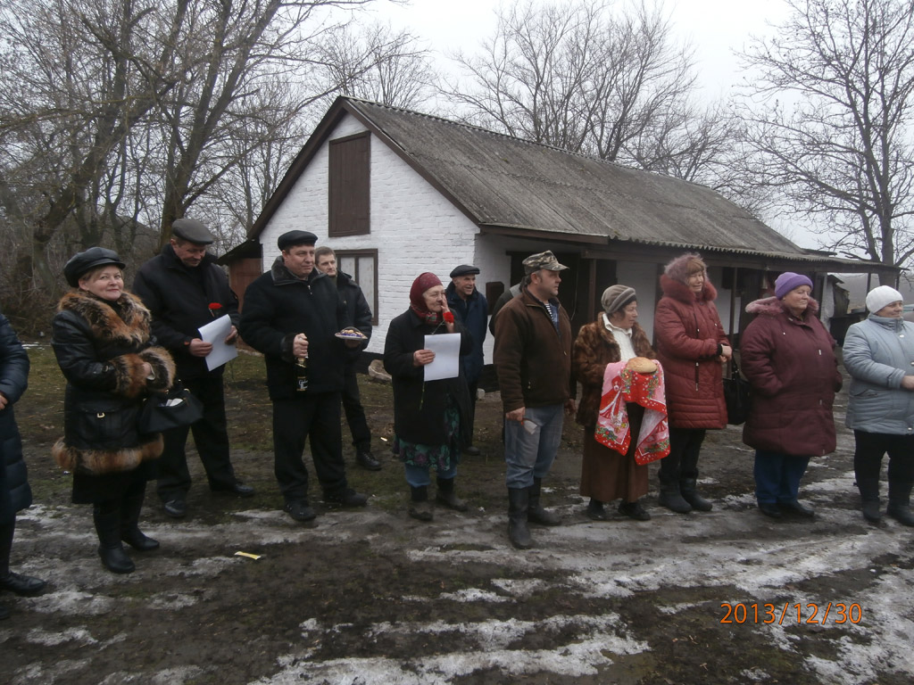
<instances>
[{"instance_id":1,"label":"woman in brown fur coat holding bread on red cloth","mask_svg":"<svg viewBox=\"0 0 914 685\"><path fill-rule=\"evenodd\" d=\"M578 423L584 427L584 456L581 462L580 494L590 497L587 515L594 521L604 521L603 504L622 499L619 512L637 521L651 518L639 501L647 494L647 464L635 463L637 440L632 439L628 453L605 447L594 438L594 428L600 411L603 373L607 364L628 362L635 357L653 359L644 329L638 319L635 291L624 285L614 285L603 291L600 298L603 311L597 320L581 327L574 342L572 368L582 386ZM655 368L655 367L654 367ZM643 406L626 405L631 433L638 435Z\"/></svg>"}]
</instances>

